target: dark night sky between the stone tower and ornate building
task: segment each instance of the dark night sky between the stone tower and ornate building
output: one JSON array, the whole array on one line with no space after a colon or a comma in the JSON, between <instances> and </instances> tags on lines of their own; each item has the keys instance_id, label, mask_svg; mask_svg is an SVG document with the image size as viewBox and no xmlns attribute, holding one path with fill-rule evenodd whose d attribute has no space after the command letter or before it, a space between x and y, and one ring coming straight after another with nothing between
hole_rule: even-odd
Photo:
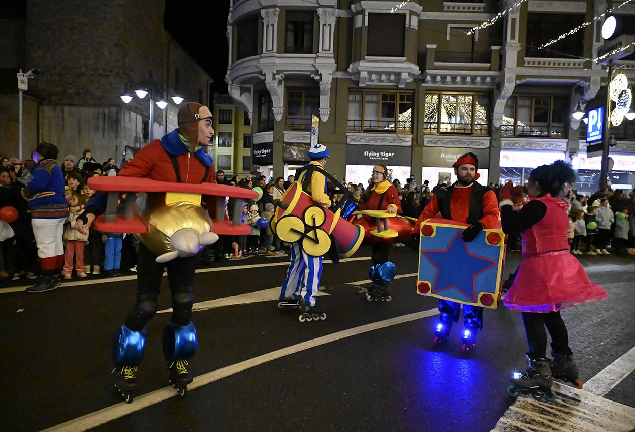
<instances>
[{"instance_id":1,"label":"dark night sky between the stone tower and ornate building","mask_svg":"<svg viewBox=\"0 0 635 432\"><path fill-rule=\"evenodd\" d=\"M228 11L229 0L165 0L165 29L211 75L215 93L227 93Z\"/></svg>"}]
</instances>

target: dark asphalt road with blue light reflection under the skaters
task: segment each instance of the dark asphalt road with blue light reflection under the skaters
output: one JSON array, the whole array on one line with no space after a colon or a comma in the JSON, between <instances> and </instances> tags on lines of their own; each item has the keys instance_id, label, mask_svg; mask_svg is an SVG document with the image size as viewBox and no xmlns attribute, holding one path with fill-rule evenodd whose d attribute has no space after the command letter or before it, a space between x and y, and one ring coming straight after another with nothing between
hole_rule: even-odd
<instances>
[{"instance_id":1,"label":"dark asphalt road with blue light reflection under the skaters","mask_svg":"<svg viewBox=\"0 0 635 432\"><path fill-rule=\"evenodd\" d=\"M368 303L370 250L324 264L318 302L327 319L300 323L276 307L285 257L250 257L199 269L192 321L199 348L187 398L167 387L161 331L148 325L140 387L130 405L112 388L110 338L133 306L134 274L65 283L28 294L0 288L0 429L36 431L500 431L635 429L635 259L580 255L609 299L563 311L588 381L555 386L556 402L511 398L512 370L525 370L518 313L486 310L469 356L460 325L432 344L436 300L415 294L417 255L394 248L391 302ZM507 272L518 252L509 253ZM273 289L269 289L273 288ZM170 307L167 278L159 309ZM629 354L630 353L630 354ZM589 381L591 380L591 381Z\"/></svg>"}]
</instances>

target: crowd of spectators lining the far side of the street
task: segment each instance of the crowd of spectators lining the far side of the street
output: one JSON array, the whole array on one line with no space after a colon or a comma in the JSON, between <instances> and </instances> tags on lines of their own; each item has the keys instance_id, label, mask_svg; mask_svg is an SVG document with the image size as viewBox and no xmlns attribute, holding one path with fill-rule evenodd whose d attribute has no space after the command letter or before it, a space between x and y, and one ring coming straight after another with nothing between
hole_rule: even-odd
<instances>
[{"instance_id":1,"label":"crowd of spectators lining the far side of the street","mask_svg":"<svg viewBox=\"0 0 635 432\"><path fill-rule=\"evenodd\" d=\"M86 278L89 274L119 276L122 269L133 269L135 266L135 246L138 241L133 236L100 233L90 229L86 236L74 230L74 223L84 206L96 193L90 189L87 180L97 175L109 175L111 170L119 172L114 158L98 163L90 149L85 149L82 157L69 154L60 161L66 182L66 199L69 203L69 216L65 225L65 262L62 276L71 278L73 274ZM28 173L27 173L28 174ZM22 160L17 158L1 158L0 166L0 207L13 206L18 210L18 219L9 225L0 226L0 278L19 280L20 278L36 278L37 248L30 223L30 215L25 200L20 194L25 186L20 178L25 175ZM111 174L112 175L112 174ZM369 173L370 175L370 173ZM334 177L337 178L337 175ZM254 166L248 175L225 175L223 170L216 173L218 184L225 184L262 192L261 198L249 200L243 206L243 220L251 227L251 233L244 236L221 236L216 245L207 246L201 253L201 264L211 265L212 256L215 261L248 257L264 254L267 257L286 256L288 245L281 242L269 227L274 208L283 197L284 192L293 183L294 176L267 178ZM370 182L370 180L369 180ZM430 187L425 180L417 185L414 177L401 184L393 179L401 199L403 215L417 218L432 198L432 194L446 183L439 180ZM344 187L345 190L342 190ZM370 183L347 182L342 180L341 186L329 182L328 192L333 206L342 199L348 199L361 205L369 195ZM498 184L490 184L495 191ZM578 194L570 196L570 241L572 253L582 252L589 255L629 253L635 255L635 190L630 194L622 190L612 191L610 187L602 189L589 198ZM225 212L226 217L233 217L234 206L229 199ZM518 239L510 239L509 248L516 249ZM18 259L19 257L19 259Z\"/></svg>"}]
</instances>

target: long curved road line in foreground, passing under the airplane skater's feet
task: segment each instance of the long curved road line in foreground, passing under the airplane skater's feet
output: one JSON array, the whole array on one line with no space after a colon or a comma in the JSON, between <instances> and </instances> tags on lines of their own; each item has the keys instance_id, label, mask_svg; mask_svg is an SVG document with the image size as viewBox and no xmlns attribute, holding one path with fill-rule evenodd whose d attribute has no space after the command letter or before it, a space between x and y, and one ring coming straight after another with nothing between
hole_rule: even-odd
<instances>
[{"instance_id":1,"label":"long curved road line in foreground, passing under the airplane skater's feet","mask_svg":"<svg viewBox=\"0 0 635 432\"><path fill-rule=\"evenodd\" d=\"M188 386L188 389L191 390L197 387L205 386L206 384L210 384L210 382L218 381L219 379L228 377L229 375L237 374L238 372L242 372L243 370L262 365L263 363L267 363L272 360L277 360L278 358L282 358L284 356L299 353L300 351L304 351L306 349L315 348L316 346L339 341L340 339L344 339L346 337L371 332L380 328L390 327L391 325L420 320L421 318L432 316L436 313L438 313L437 309L429 309L427 311L397 316L395 318L390 318L389 320L377 321L375 323L349 328L348 330L342 330L341 332L332 333L330 335L311 339L310 341L291 345L286 348L277 349L276 351L251 358L250 360L241 361L234 365L230 365L217 370L212 370L211 372L207 372L206 374L198 375L194 378L192 384ZM162 389L146 393L145 395L137 396L132 403L117 403L116 405L111 405L110 407L92 412L91 414L84 415L83 417L78 417L77 419L58 424L57 426L53 426L53 428L46 429L46 431L86 431L91 428L96 428L97 426L100 426L100 424L119 419L124 415L128 415L135 411L142 410L143 408L155 405L156 403L163 402L164 400L172 398L176 395L177 393L175 389L173 389L171 386L164 387Z\"/></svg>"}]
</instances>

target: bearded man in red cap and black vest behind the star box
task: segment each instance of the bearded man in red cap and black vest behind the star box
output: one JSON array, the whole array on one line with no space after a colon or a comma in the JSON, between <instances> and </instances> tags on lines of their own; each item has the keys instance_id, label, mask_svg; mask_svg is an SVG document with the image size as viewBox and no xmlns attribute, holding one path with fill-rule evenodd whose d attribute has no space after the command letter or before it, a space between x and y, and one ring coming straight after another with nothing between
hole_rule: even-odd
<instances>
[{"instance_id":1,"label":"bearded man in red cap and black vest behind the star box","mask_svg":"<svg viewBox=\"0 0 635 432\"><path fill-rule=\"evenodd\" d=\"M439 188L430 203L417 219L412 234L418 236L421 223L441 212L444 219L455 220L464 224L471 224L465 228L461 238L469 243L484 228L491 228L498 220L498 200L496 194L489 187L476 182L478 174L478 157L469 152L462 155L452 165L457 181L446 187ZM435 344L439 344L450 336L453 322L458 321L461 305L457 302L439 300L440 322L434 330ZM465 331L462 336L465 346L469 349L476 343L476 334L483 328L483 308L463 305Z\"/></svg>"}]
</instances>

